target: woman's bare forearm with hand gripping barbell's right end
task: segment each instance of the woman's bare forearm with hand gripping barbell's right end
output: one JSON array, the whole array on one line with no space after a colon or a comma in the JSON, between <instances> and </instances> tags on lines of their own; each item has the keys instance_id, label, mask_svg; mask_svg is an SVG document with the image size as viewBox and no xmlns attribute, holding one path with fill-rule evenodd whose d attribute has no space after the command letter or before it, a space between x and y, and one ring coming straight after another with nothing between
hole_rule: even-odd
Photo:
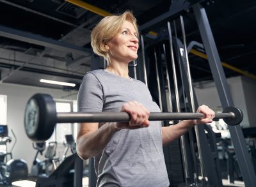
<instances>
[{"instance_id":1,"label":"woman's bare forearm with hand gripping barbell's right end","mask_svg":"<svg viewBox=\"0 0 256 187\"><path fill-rule=\"evenodd\" d=\"M205 118L198 120L184 120L172 126L162 127L163 145L172 142L176 138L179 138L181 135L186 133L190 128L197 124L212 123L212 119L214 118L215 113L213 110L211 110L211 108L207 107L206 105L202 105L198 107L196 112L203 113Z\"/></svg>"}]
</instances>

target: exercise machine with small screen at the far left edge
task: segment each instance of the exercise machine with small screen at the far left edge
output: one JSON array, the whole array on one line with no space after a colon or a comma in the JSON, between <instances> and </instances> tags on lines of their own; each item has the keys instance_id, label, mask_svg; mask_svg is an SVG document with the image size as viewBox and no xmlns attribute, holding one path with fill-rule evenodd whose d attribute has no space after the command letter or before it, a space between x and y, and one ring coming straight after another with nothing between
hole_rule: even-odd
<instances>
[{"instance_id":1,"label":"exercise machine with small screen at the far left edge","mask_svg":"<svg viewBox=\"0 0 256 187\"><path fill-rule=\"evenodd\" d=\"M28 165L26 161L17 159L13 160L12 150L17 142L17 138L12 131L14 143L10 152L7 151L7 144L12 142L12 138L8 136L8 126L0 125L0 145L4 146L4 150L0 151L0 185L11 185L13 181L19 181L28 178ZM10 159L8 160L8 156Z\"/></svg>"}]
</instances>

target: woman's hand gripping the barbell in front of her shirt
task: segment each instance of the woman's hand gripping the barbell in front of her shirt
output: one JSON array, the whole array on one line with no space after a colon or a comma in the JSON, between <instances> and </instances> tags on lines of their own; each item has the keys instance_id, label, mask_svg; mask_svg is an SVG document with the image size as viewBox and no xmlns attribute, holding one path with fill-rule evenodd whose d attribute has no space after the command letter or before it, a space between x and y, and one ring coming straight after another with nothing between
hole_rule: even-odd
<instances>
[{"instance_id":1,"label":"woman's hand gripping the barbell in front of her shirt","mask_svg":"<svg viewBox=\"0 0 256 187\"><path fill-rule=\"evenodd\" d=\"M127 112L131 117L129 123L116 123L116 129L136 129L149 126L148 116L150 112L137 101L130 101L122 106L120 112Z\"/></svg>"}]
</instances>

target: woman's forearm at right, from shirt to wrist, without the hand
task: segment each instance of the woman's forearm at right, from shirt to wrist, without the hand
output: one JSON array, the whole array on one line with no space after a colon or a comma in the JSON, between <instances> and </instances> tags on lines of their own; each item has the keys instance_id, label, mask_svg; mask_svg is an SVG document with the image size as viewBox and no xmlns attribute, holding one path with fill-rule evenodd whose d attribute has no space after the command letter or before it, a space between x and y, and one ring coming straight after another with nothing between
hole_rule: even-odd
<instances>
[{"instance_id":1,"label":"woman's forearm at right, from shirt to wrist, without the hand","mask_svg":"<svg viewBox=\"0 0 256 187\"><path fill-rule=\"evenodd\" d=\"M193 126L195 126L195 122L193 120L184 120L175 125L162 127L163 145L179 138Z\"/></svg>"}]
</instances>

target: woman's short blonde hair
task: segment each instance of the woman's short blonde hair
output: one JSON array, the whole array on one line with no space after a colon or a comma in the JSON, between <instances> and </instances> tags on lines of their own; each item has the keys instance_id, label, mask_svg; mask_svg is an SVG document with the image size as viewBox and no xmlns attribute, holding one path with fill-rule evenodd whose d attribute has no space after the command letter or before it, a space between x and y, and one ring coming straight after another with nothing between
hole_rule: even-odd
<instances>
[{"instance_id":1,"label":"woman's short blonde hair","mask_svg":"<svg viewBox=\"0 0 256 187\"><path fill-rule=\"evenodd\" d=\"M136 18L131 11L125 11L121 15L109 15L100 20L100 22L92 30L91 45L95 54L104 57L108 63L108 50L105 48L106 43L118 34L122 29L125 20L132 23L137 33L138 25Z\"/></svg>"}]
</instances>

